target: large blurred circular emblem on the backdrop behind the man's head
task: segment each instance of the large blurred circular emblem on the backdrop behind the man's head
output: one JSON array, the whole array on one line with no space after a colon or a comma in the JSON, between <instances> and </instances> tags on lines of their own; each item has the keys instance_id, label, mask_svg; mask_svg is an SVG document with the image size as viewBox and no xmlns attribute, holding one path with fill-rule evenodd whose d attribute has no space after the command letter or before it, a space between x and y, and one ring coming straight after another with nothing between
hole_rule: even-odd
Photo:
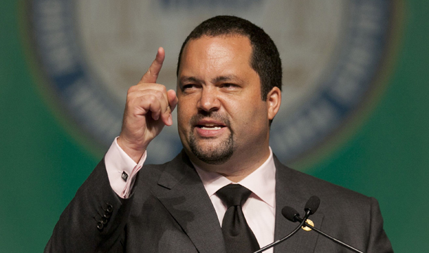
<instances>
[{"instance_id":1,"label":"large blurred circular emblem on the backdrop behind the man's head","mask_svg":"<svg viewBox=\"0 0 429 253\"><path fill-rule=\"evenodd\" d=\"M283 62L281 110L270 145L282 162L314 150L353 117L378 85L392 22L392 1L66 1L28 5L32 43L52 106L106 148L120 133L127 89L159 46L158 83L175 89L181 43L203 20L237 15L264 28ZM176 124L176 122L174 122ZM148 162L181 150L176 125L148 148Z\"/></svg>"}]
</instances>

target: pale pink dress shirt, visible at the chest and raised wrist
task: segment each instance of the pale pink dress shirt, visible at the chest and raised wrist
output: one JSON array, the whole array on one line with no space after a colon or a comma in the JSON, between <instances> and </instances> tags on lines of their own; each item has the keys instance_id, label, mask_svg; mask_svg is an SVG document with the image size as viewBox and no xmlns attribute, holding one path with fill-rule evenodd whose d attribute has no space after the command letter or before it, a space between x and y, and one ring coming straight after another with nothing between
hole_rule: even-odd
<instances>
[{"instance_id":1,"label":"pale pink dress shirt, visible at the chest and raised wrist","mask_svg":"<svg viewBox=\"0 0 429 253\"><path fill-rule=\"evenodd\" d=\"M252 229L255 237L264 247L271 242L274 242L274 225L276 217L276 166L274 165L273 153L269 148L269 157L264 164L252 172L242 181L238 182L241 186L248 188L252 194L243 205L243 214L248 225ZM143 166L146 160L146 152L141 157L138 164L125 153L117 141L113 141L108 153L105 154L105 168L108 173L110 186L122 198L129 197L130 190L134 185L136 173ZM215 194L217 190L233 183L226 177L215 172L204 171L193 164L200 176L201 181L207 195L210 197L214 210L216 210L219 224L222 225L222 219L226 212L226 206ZM127 174L127 180L124 181L123 174ZM273 249L268 249L268 253L272 253Z\"/></svg>"}]
</instances>

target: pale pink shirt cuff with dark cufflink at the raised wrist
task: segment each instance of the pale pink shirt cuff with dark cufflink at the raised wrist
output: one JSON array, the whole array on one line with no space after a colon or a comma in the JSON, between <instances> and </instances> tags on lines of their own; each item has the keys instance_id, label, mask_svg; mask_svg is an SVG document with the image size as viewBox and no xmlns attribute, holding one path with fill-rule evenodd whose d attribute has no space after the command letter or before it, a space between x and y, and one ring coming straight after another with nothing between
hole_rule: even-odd
<instances>
[{"instance_id":1,"label":"pale pink shirt cuff with dark cufflink at the raised wrist","mask_svg":"<svg viewBox=\"0 0 429 253\"><path fill-rule=\"evenodd\" d=\"M147 152L145 151L139 163L134 162L134 160L120 148L117 144L117 137L115 138L115 141L113 141L108 152L105 154L104 163L110 187L112 187L117 195L122 198L129 197L129 193L131 193L132 187L134 186L136 174L143 166L146 157Z\"/></svg>"}]
</instances>

